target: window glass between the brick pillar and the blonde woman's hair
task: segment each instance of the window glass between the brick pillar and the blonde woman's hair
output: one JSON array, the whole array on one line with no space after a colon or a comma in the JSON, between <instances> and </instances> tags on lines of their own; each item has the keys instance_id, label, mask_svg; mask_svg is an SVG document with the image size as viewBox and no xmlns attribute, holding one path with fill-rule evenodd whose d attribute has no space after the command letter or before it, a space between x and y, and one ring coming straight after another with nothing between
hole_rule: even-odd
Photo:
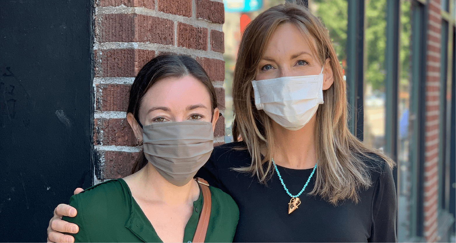
<instances>
[{"instance_id":1,"label":"window glass between the brick pillar and the blonde woman's hair","mask_svg":"<svg viewBox=\"0 0 456 243\"><path fill-rule=\"evenodd\" d=\"M259 0L250 1L249 6L244 3L244 0L224 0L225 5L225 23L223 24L223 33L225 36L225 53L223 59L225 60L225 81L223 88L225 89L225 142L233 142L233 135L231 126L233 125L233 72L234 65L236 64L236 57L238 56L239 42L241 41L241 26L245 26L248 20L253 20L264 10L272 6L284 4L285 0ZM258 3L260 8L258 10L249 11L252 7L251 2ZM246 7L244 7L244 5ZM253 7L252 7L253 8ZM242 24L241 24L242 16Z\"/></svg>"}]
</instances>

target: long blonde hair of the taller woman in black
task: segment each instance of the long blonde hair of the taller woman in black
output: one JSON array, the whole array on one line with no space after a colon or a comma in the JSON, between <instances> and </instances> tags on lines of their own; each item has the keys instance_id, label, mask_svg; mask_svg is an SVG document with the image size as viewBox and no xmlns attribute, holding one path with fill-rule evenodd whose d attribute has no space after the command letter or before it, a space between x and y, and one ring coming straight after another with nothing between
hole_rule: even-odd
<instances>
[{"instance_id":1,"label":"long blonde hair of the taller woman in black","mask_svg":"<svg viewBox=\"0 0 456 243\"><path fill-rule=\"evenodd\" d=\"M233 81L233 137L245 142L252 156L248 167L235 168L239 172L248 172L266 184L273 175L271 158L274 153L274 137L271 119L263 110L257 110L251 81L256 75L256 68L263 56L265 46L277 26L291 23L312 43L316 42L314 55L321 65L329 58L334 75L332 86L323 91L324 104L316 111L316 169L315 187L310 195L320 195L327 202L337 205L339 201L351 199L357 203L358 191L372 185L369 170L371 165L365 160L385 160L388 166L392 162L382 152L366 148L352 135L347 126L346 83L343 80L342 67L337 60L328 31L321 21L306 8L293 5L277 5L256 17L244 30L239 46L238 60L234 69ZM313 45L310 45L313 46ZM265 154L261 154L264 151Z\"/></svg>"}]
</instances>

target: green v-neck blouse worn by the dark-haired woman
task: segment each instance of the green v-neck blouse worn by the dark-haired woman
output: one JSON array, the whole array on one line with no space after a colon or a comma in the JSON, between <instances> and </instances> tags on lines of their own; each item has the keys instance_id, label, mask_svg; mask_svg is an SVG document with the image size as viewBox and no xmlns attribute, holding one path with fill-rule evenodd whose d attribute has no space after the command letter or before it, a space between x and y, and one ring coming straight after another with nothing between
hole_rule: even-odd
<instances>
[{"instance_id":1,"label":"green v-neck blouse worn by the dark-haired woman","mask_svg":"<svg viewBox=\"0 0 456 243\"><path fill-rule=\"evenodd\" d=\"M239 209L233 198L215 187L209 187L212 197L211 216L205 241L233 242L239 219ZM193 202L193 213L185 226L184 243L191 243L202 209L202 192ZM140 206L131 196L122 179L99 183L70 198L78 210L74 218L62 219L79 226L72 234L74 242L163 242Z\"/></svg>"}]
</instances>

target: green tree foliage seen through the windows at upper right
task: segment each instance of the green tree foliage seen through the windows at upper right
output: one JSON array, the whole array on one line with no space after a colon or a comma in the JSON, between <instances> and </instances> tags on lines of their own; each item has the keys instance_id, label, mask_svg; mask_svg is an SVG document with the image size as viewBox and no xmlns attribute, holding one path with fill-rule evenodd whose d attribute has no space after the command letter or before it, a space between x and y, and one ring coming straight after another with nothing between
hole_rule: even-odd
<instances>
[{"instance_id":1,"label":"green tree foliage seen through the windows at upper right","mask_svg":"<svg viewBox=\"0 0 456 243\"><path fill-rule=\"evenodd\" d=\"M311 0L316 5L316 15L321 18L332 39L340 61L347 58L347 0ZM364 81L373 90L384 91L386 51L386 2L387 0L366 0L365 10L365 65ZM312 9L311 9L312 10ZM410 3L401 4L400 64L401 84L408 83Z\"/></svg>"}]
</instances>

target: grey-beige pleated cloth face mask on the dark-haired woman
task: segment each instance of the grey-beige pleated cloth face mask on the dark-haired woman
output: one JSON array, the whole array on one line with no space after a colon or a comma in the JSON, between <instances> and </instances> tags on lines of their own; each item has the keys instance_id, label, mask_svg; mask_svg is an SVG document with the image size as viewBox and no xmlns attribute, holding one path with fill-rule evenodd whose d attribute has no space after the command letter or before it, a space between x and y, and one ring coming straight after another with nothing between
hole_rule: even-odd
<instances>
[{"instance_id":1,"label":"grey-beige pleated cloth face mask on the dark-haired woman","mask_svg":"<svg viewBox=\"0 0 456 243\"><path fill-rule=\"evenodd\" d=\"M144 126L147 160L168 182L181 187L207 162L214 147L212 123L163 122Z\"/></svg>"}]
</instances>

